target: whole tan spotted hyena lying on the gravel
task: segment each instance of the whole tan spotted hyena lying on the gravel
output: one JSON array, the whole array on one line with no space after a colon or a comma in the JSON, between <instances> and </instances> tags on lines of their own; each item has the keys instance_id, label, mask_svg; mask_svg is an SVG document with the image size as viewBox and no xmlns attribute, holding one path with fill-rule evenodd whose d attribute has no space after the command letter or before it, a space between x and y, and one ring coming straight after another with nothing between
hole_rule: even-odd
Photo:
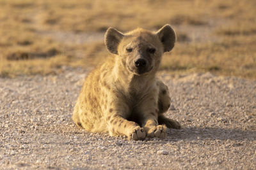
<instances>
[{"instance_id":1,"label":"whole tan spotted hyena lying on the gravel","mask_svg":"<svg viewBox=\"0 0 256 170\"><path fill-rule=\"evenodd\" d=\"M168 87L156 77L164 52L172 50L175 31L135 29L123 34L110 27L105 44L112 55L84 81L73 120L88 132L109 132L128 139L164 138L166 126L179 122L164 117L170 107Z\"/></svg>"}]
</instances>

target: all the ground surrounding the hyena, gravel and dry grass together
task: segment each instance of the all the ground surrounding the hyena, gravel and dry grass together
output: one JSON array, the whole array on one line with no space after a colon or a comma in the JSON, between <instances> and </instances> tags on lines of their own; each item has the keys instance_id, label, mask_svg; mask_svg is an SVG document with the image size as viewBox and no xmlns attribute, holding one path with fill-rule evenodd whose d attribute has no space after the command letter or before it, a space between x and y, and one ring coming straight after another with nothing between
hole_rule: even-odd
<instances>
[{"instance_id":1,"label":"all the ground surrounding the hyena, gravel and dry grass together","mask_svg":"<svg viewBox=\"0 0 256 170\"><path fill-rule=\"evenodd\" d=\"M256 169L255 6L0 0L0 169ZM84 77L108 55L104 31L164 24L178 41L159 75L182 129L127 141L76 127Z\"/></svg>"}]
</instances>

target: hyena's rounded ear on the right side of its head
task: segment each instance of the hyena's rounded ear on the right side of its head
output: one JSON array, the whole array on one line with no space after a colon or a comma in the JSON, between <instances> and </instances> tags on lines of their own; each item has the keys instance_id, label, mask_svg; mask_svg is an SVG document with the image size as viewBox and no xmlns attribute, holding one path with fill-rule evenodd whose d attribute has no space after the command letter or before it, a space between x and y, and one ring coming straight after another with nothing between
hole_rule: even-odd
<instances>
[{"instance_id":1,"label":"hyena's rounded ear on the right side of its head","mask_svg":"<svg viewBox=\"0 0 256 170\"><path fill-rule=\"evenodd\" d=\"M156 34L163 43L164 52L170 52L176 41L176 34L172 27L169 24L166 24L161 27Z\"/></svg>"}]
</instances>

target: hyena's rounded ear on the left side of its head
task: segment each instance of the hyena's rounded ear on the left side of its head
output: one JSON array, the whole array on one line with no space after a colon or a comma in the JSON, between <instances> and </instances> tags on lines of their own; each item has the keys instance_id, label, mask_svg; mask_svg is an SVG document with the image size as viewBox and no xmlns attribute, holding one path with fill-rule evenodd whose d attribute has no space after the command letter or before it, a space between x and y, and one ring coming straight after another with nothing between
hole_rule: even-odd
<instances>
[{"instance_id":1,"label":"hyena's rounded ear on the left side of its head","mask_svg":"<svg viewBox=\"0 0 256 170\"><path fill-rule=\"evenodd\" d=\"M117 31L113 27L108 28L105 34L105 45L109 52L118 54L117 48L122 38L124 38L122 32Z\"/></svg>"}]
</instances>

